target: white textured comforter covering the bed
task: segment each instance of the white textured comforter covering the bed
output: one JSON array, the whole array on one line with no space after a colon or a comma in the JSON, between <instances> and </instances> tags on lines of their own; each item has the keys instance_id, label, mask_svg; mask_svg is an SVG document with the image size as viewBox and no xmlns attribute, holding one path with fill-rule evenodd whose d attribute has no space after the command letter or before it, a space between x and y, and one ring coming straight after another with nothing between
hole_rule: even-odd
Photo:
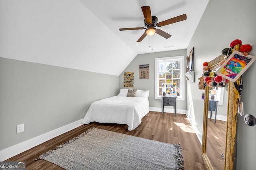
<instances>
[{"instance_id":1,"label":"white textured comforter covering the bed","mask_svg":"<svg viewBox=\"0 0 256 170\"><path fill-rule=\"evenodd\" d=\"M93 102L82 123L118 123L128 125L131 131L138 127L149 112L148 98L113 96Z\"/></svg>"}]
</instances>

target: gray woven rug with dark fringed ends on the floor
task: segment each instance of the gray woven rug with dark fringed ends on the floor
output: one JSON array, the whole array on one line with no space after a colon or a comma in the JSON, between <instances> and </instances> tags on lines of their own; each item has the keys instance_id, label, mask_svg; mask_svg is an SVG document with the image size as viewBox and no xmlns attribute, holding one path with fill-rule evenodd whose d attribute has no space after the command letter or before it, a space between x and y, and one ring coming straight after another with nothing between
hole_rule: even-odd
<instances>
[{"instance_id":1,"label":"gray woven rug with dark fringed ends on the floor","mask_svg":"<svg viewBox=\"0 0 256 170\"><path fill-rule=\"evenodd\" d=\"M180 144L92 128L39 156L66 170L181 170Z\"/></svg>"}]
</instances>

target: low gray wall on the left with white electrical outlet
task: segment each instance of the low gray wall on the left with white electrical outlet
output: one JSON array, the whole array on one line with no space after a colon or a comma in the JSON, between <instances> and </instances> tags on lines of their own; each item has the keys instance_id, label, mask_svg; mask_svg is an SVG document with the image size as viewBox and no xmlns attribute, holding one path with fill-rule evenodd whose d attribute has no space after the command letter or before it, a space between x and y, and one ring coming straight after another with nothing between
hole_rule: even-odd
<instances>
[{"instance_id":1,"label":"low gray wall on the left with white electrical outlet","mask_svg":"<svg viewBox=\"0 0 256 170\"><path fill-rule=\"evenodd\" d=\"M0 78L0 150L78 121L92 102L119 92L118 76L5 58Z\"/></svg>"}]
</instances>

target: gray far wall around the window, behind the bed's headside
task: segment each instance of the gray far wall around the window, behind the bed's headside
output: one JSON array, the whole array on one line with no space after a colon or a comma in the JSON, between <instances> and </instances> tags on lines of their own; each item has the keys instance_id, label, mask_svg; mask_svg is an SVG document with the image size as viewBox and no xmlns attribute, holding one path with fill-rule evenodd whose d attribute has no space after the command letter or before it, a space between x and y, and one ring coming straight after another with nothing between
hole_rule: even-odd
<instances>
[{"instance_id":1,"label":"gray far wall around the window, behind the bed's headside","mask_svg":"<svg viewBox=\"0 0 256 170\"><path fill-rule=\"evenodd\" d=\"M165 51L159 53L147 53L137 55L133 61L124 69L119 76L119 88L124 88L124 72L134 72L134 88L140 90L150 90L148 97L150 107L161 107L161 101L155 99L155 59L161 57L174 57L186 55L186 49L176 51ZM185 62L185 61L184 61ZM149 78L140 79L139 66L149 64ZM184 71L185 72L185 71ZM185 81L185 76L184 76ZM185 81L186 89L186 81ZM186 110L186 90L185 100L177 100L177 109Z\"/></svg>"}]
</instances>

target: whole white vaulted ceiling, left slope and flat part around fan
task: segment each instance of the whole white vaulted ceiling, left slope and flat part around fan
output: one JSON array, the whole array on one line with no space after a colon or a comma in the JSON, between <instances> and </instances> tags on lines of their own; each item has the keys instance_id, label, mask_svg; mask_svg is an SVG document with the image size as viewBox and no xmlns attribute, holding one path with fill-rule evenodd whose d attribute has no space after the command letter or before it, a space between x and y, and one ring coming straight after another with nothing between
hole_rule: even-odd
<instances>
[{"instance_id":1,"label":"whole white vaulted ceiling, left slope and flat part around fan","mask_svg":"<svg viewBox=\"0 0 256 170\"><path fill-rule=\"evenodd\" d=\"M0 57L119 75L142 53L186 49L209 0L0 0ZM141 6L158 22L186 14L136 42L144 27ZM153 50L152 50L153 49Z\"/></svg>"}]
</instances>

